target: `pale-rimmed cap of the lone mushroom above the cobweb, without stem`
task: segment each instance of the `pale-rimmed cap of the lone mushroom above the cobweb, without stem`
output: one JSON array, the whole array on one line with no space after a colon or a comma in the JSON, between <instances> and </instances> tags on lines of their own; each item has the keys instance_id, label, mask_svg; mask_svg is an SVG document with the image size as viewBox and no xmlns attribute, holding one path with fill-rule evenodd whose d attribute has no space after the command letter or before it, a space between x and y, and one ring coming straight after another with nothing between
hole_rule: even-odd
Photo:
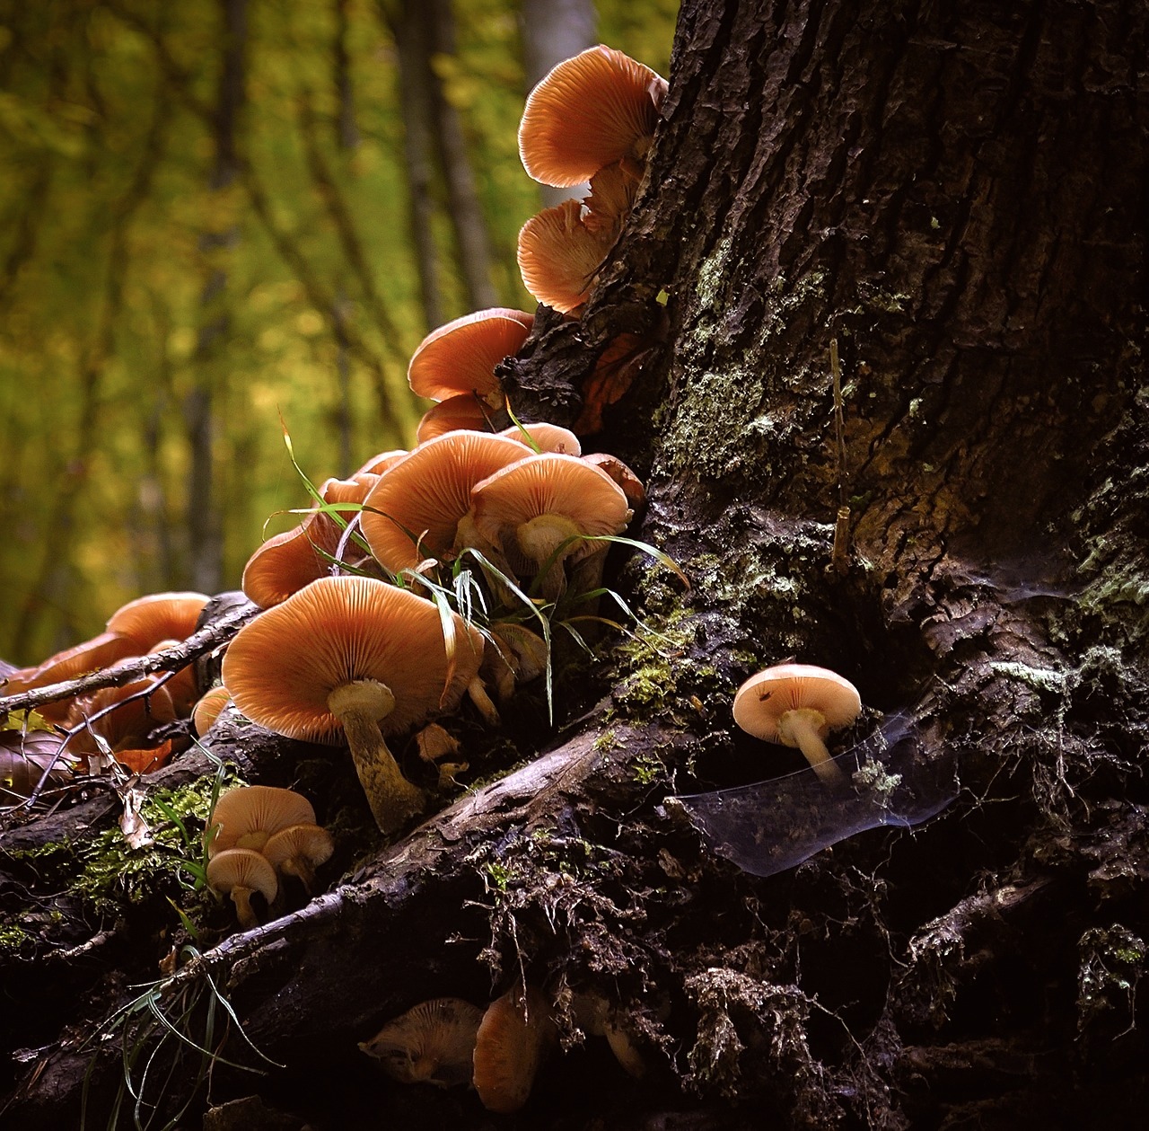
<instances>
[{"instance_id":1,"label":"pale-rimmed cap of the lone mushroom above the cobweb, without stem","mask_svg":"<svg viewBox=\"0 0 1149 1131\"><path fill-rule=\"evenodd\" d=\"M862 710L857 687L827 668L781 663L750 676L734 695L734 722L748 734L780 743L778 724L792 710L815 710L825 718L820 737L848 726Z\"/></svg>"}]
</instances>

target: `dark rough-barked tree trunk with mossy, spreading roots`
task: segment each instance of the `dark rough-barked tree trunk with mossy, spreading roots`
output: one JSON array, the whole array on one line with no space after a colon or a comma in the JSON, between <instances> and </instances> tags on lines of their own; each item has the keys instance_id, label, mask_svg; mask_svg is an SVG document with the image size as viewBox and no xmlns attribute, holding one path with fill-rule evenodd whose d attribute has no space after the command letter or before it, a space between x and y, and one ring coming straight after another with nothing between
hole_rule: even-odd
<instances>
[{"instance_id":1,"label":"dark rough-barked tree trunk with mossy, spreading roots","mask_svg":"<svg viewBox=\"0 0 1149 1131\"><path fill-rule=\"evenodd\" d=\"M541 757L176 975L167 1001L209 971L290 1068L217 1067L215 1099L313 1126L492 1125L355 1046L419 1000L525 977L619 1005L648 1071L588 1040L522 1126L1139 1122L1147 14L1003 7L684 6L632 221L583 321L540 320L507 383L520 411L573 420L597 353L640 336L595 446L648 478L640 537L692 588L625 564L611 584L661 653L604 644L561 682L569 722ZM789 655L858 685L855 740L910 732L923 765L956 759L961 792L912 833L756 878L665 799L755 780L759 757L796 768L728 706ZM472 731L480 764L515 756ZM517 756L540 731L508 725ZM315 783L310 764L272 745L247 769ZM36 1039L53 1044L9 1114L63 1125L91 1046L79 1026ZM102 1111L119 1063L95 1065Z\"/></svg>"}]
</instances>

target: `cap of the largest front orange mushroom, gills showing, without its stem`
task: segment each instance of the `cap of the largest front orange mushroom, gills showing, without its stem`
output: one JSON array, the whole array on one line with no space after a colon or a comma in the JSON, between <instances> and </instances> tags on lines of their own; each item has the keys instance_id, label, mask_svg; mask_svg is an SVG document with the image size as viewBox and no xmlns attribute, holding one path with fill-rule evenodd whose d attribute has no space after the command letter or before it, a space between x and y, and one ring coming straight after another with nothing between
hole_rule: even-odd
<instances>
[{"instance_id":1,"label":"cap of the largest front orange mushroom, gills showing, without its stem","mask_svg":"<svg viewBox=\"0 0 1149 1131\"><path fill-rule=\"evenodd\" d=\"M483 637L457 614L448 656L439 609L370 577L323 577L236 633L223 683L248 718L288 738L338 743L327 697L375 679L395 697L384 733L458 706L483 657Z\"/></svg>"}]
</instances>

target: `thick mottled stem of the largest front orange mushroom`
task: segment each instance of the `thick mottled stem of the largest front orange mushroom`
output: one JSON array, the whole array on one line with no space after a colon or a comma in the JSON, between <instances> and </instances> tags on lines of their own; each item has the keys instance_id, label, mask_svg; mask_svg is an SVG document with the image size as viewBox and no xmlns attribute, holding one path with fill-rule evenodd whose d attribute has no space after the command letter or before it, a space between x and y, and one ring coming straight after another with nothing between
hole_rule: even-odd
<instances>
[{"instance_id":1,"label":"thick mottled stem of the largest front orange mushroom","mask_svg":"<svg viewBox=\"0 0 1149 1131\"><path fill-rule=\"evenodd\" d=\"M395 706L388 687L375 679L356 679L327 697L327 709L342 724L360 785L381 832L402 828L423 811L425 794L403 777L387 748L378 720Z\"/></svg>"}]
</instances>

